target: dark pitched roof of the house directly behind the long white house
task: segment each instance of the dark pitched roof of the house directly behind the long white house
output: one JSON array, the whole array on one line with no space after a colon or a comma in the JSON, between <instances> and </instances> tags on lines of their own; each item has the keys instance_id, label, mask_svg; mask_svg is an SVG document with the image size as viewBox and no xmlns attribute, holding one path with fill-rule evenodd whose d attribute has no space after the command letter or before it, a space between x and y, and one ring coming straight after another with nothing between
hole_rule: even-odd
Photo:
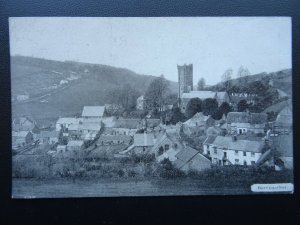
<instances>
[{"instance_id":1,"label":"dark pitched roof of the house directly behind the long white house","mask_svg":"<svg viewBox=\"0 0 300 225\"><path fill-rule=\"evenodd\" d=\"M263 124L267 122L266 113L229 112L227 123Z\"/></svg>"}]
</instances>

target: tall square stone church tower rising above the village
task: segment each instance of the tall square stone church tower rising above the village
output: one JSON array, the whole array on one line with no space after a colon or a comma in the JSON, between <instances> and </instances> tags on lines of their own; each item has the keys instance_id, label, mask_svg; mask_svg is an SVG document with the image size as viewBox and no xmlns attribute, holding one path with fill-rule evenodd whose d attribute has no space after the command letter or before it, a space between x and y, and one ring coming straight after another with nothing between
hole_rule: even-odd
<instances>
[{"instance_id":1,"label":"tall square stone church tower rising above the village","mask_svg":"<svg viewBox=\"0 0 300 225\"><path fill-rule=\"evenodd\" d=\"M177 65L178 69L178 97L181 99L183 93L193 90L193 64L183 66Z\"/></svg>"}]
</instances>

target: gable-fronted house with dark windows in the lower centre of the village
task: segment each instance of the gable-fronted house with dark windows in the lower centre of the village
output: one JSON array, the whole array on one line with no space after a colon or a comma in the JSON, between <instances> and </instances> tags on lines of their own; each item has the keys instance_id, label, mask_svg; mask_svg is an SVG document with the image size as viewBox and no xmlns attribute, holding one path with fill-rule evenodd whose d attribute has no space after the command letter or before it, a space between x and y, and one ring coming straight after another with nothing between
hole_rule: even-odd
<instances>
[{"instance_id":1,"label":"gable-fronted house with dark windows in the lower centre of the village","mask_svg":"<svg viewBox=\"0 0 300 225\"><path fill-rule=\"evenodd\" d=\"M162 161L163 159L169 159L171 162L176 160L175 155L183 148L183 144L180 141L180 136L176 131L165 131L161 135L152 151L155 154L157 161Z\"/></svg>"}]
</instances>

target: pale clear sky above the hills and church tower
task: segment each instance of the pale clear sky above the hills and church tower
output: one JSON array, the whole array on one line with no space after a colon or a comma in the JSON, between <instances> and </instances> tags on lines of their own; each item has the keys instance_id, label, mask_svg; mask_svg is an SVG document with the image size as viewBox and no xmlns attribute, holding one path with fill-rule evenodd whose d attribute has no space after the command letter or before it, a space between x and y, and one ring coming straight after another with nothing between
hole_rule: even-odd
<instances>
[{"instance_id":1,"label":"pale clear sky above the hills and church tower","mask_svg":"<svg viewBox=\"0 0 300 225\"><path fill-rule=\"evenodd\" d=\"M12 17L11 55L105 64L178 81L193 64L213 85L229 68L292 68L289 17Z\"/></svg>"}]
</instances>

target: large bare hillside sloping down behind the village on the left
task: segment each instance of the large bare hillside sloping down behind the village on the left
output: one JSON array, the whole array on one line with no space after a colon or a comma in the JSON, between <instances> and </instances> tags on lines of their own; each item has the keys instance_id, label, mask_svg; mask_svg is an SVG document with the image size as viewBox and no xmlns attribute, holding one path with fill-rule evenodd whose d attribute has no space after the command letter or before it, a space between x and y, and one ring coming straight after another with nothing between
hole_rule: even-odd
<instances>
[{"instance_id":1,"label":"large bare hillside sloping down behind the village on the left","mask_svg":"<svg viewBox=\"0 0 300 225\"><path fill-rule=\"evenodd\" d=\"M53 122L80 113L84 105L109 103L107 91L122 85L143 94L154 78L107 65L13 56L12 113ZM177 83L170 81L170 92L176 91Z\"/></svg>"}]
</instances>

